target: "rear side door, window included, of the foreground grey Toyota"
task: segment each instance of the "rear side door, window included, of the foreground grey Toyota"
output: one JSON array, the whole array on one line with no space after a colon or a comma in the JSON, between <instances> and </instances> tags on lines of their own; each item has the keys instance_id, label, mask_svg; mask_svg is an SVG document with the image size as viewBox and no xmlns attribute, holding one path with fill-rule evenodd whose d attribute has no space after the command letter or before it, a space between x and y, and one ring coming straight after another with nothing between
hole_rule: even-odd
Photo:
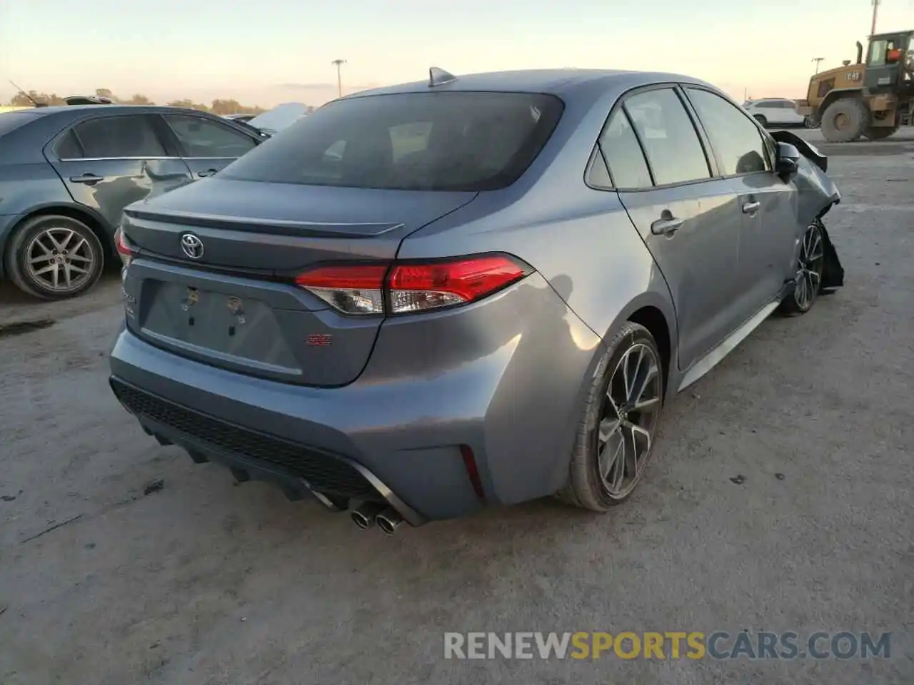
<instances>
[{"instance_id":1,"label":"rear side door, window included, of the foreground grey Toyota","mask_svg":"<svg viewBox=\"0 0 914 685\"><path fill-rule=\"evenodd\" d=\"M600 151L611 184L664 275L686 369L732 330L741 215L733 185L716 178L674 86L627 95Z\"/></svg>"}]
</instances>

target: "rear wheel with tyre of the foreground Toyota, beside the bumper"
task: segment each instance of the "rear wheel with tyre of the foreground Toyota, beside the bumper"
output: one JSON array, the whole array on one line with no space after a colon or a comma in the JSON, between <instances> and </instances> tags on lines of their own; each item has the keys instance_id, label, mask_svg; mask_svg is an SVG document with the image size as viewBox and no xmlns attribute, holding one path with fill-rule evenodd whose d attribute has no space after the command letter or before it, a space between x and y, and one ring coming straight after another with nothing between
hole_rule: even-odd
<instances>
[{"instance_id":1,"label":"rear wheel with tyre of the foreground Toyota, beside the bumper","mask_svg":"<svg viewBox=\"0 0 914 685\"><path fill-rule=\"evenodd\" d=\"M561 499L591 511L625 501L654 451L664 370L654 337L627 322L600 360Z\"/></svg>"}]
</instances>

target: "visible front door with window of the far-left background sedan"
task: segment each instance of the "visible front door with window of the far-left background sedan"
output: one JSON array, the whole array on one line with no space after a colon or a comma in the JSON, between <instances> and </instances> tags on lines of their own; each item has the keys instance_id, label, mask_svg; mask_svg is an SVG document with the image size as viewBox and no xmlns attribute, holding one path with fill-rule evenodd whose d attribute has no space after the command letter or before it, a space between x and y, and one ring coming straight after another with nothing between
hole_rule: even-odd
<instances>
[{"instance_id":1,"label":"visible front door with window of the far-left background sedan","mask_svg":"<svg viewBox=\"0 0 914 685\"><path fill-rule=\"evenodd\" d=\"M203 115L173 113L162 118L195 179L216 174L258 144L253 135Z\"/></svg>"}]
</instances>

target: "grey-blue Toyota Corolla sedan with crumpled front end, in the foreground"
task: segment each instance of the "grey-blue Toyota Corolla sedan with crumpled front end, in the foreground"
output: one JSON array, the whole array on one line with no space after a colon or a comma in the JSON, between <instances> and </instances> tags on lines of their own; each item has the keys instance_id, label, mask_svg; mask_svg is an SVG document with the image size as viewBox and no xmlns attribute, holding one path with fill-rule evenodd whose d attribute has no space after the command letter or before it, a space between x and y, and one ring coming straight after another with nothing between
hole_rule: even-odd
<instances>
[{"instance_id":1,"label":"grey-blue Toyota Corolla sedan with crumpled front end, in the foreground","mask_svg":"<svg viewBox=\"0 0 914 685\"><path fill-rule=\"evenodd\" d=\"M432 68L125 210L112 389L361 527L607 511L664 401L842 284L826 167L696 79Z\"/></svg>"}]
</instances>

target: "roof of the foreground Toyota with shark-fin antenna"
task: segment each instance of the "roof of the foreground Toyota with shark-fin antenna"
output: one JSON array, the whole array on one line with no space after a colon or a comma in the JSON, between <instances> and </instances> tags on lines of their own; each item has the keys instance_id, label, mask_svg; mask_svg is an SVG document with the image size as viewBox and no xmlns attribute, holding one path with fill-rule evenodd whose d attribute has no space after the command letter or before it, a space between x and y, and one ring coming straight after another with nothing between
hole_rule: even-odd
<instances>
[{"instance_id":1,"label":"roof of the foreground Toyota with shark-fin antenna","mask_svg":"<svg viewBox=\"0 0 914 685\"><path fill-rule=\"evenodd\" d=\"M402 83L370 90L360 90L346 95L343 100L371 95L388 95L409 92L454 92L454 91L513 91L548 93L567 97L582 91L594 94L611 88L627 90L652 83L679 82L711 86L700 79L682 74L653 71L625 71L613 69L523 69L517 71L493 71L478 74L458 75L456 79L430 88L429 79Z\"/></svg>"}]
</instances>

